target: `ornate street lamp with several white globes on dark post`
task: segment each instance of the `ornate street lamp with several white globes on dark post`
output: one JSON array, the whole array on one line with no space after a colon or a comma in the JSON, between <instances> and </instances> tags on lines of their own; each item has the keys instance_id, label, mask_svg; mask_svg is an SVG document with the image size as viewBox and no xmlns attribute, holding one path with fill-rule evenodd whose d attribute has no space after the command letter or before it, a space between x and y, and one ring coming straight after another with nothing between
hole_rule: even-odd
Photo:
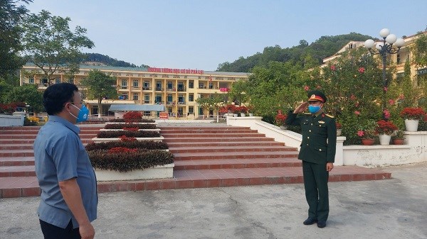
<instances>
[{"instance_id":1,"label":"ornate street lamp with several white globes on dark post","mask_svg":"<svg viewBox=\"0 0 427 239\"><path fill-rule=\"evenodd\" d=\"M373 55L381 55L383 63L383 115L386 109L386 91L389 85L389 80L386 79L386 57L387 53L396 54L400 48L405 45L403 38L397 38L396 35L390 34L390 30L384 28L379 31L379 35L383 38L382 42L376 44L374 40L368 39L365 41L364 46L368 48L369 52ZM396 46L396 48L394 48ZM385 117L384 117L385 118Z\"/></svg>"}]
</instances>

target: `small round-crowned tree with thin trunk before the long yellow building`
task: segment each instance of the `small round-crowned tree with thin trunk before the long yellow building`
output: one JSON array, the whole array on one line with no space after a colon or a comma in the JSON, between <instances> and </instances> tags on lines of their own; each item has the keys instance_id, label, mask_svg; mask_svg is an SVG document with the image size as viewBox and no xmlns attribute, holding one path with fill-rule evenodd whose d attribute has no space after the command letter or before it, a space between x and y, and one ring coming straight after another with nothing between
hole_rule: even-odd
<instances>
[{"instance_id":1,"label":"small round-crowned tree with thin trunk before the long yellow building","mask_svg":"<svg viewBox=\"0 0 427 239\"><path fill-rule=\"evenodd\" d=\"M115 98L117 89L114 85L117 83L116 77L112 77L100 70L90 70L88 77L83 79L81 84L87 91L88 99L97 99L98 118L101 118L102 99L105 97Z\"/></svg>"}]
</instances>

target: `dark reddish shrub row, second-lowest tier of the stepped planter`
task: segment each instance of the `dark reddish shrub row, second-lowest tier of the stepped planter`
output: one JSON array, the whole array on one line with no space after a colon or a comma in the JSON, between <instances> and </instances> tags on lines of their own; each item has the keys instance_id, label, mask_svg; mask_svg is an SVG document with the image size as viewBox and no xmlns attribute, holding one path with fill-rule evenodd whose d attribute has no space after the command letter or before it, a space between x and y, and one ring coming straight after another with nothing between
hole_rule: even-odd
<instances>
[{"instance_id":1,"label":"dark reddish shrub row, second-lowest tier of the stepped planter","mask_svg":"<svg viewBox=\"0 0 427 239\"><path fill-rule=\"evenodd\" d=\"M110 148L125 147L138 148L143 150L167 150L169 146L164 142L157 141L111 141L102 143L88 143L86 150L108 150Z\"/></svg>"}]
</instances>

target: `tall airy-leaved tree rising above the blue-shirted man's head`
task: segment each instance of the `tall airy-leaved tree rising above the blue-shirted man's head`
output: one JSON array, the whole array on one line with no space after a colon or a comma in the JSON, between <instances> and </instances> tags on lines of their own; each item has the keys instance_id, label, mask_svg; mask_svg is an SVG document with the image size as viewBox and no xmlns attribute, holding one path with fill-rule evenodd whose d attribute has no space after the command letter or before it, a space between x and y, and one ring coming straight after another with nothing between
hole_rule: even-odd
<instances>
[{"instance_id":1,"label":"tall airy-leaved tree rising above the blue-shirted man's head","mask_svg":"<svg viewBox=\"0 0 427 239\"><path fill-rule=\"evenodd\" d=\"M72 32L70 18L52 16L42 10L31 14L23 24L23 49L28 61L36 65L52 84L55 72L73 75L78 72L82 60L81 48L93 48L93 42L85 36L86 29L75 27Z\"/></svg>"}]
</instances>

